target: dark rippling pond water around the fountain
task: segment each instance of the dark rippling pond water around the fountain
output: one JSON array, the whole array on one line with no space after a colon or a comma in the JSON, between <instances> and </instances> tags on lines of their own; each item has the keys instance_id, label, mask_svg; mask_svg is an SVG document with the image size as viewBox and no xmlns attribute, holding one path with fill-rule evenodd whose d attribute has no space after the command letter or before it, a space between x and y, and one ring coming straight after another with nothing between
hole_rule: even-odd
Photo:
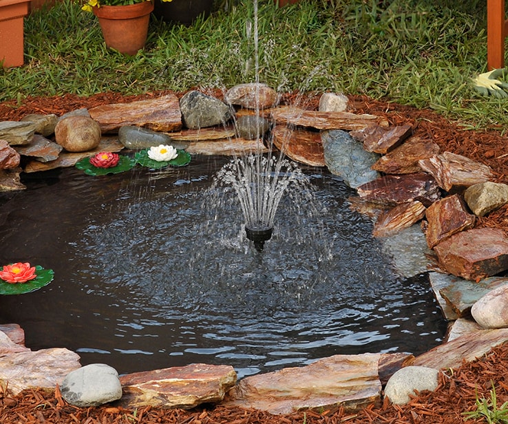
<instances>
[{"instance_id":1,"label":"dark rippling pond water around the fountain","mask_svg":"<svg viewBox=\"0 0 508 424\"><path fill-rule=\"evenodd\" d=\"M427 276L392 270L339 178L305 169L315 211L289 193L260 253L234 196L207 191L226 161L105 177L62 169L0 193L0 264L55 273L34 293L1 296L0 323L20 324L32 350L69 348L120 374L202 362L242 377L441 343Z\"/></svg>"}]
</instances>

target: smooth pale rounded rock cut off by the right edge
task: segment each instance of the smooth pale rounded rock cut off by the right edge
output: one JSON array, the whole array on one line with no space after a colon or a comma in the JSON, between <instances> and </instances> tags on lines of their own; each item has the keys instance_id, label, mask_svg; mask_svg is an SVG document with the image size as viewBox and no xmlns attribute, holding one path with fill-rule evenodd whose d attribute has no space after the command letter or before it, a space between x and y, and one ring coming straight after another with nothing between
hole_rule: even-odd
<instances>
[{"instance_id":1,"label":"smooth pale rounded rock cut off by the right edge","mask_svg":"<svg viewBox=\"0 0 508 424\"><path fill-rule=\"evenodd\" d=\"M494 288L471 308L474 320L483 328L508 328L508 284Z\"/></svg>"}]
</instances>

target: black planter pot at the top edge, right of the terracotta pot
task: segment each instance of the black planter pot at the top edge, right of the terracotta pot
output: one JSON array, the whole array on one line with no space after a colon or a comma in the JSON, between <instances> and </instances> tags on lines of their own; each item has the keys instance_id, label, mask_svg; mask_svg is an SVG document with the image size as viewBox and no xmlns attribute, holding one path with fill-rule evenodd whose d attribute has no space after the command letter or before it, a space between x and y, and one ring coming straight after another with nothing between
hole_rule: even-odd
<instances>
[{"instance_id":1,"label":"black planter pot at the top edge, right of the terracotta pot","mask_svg":"<svg viewBox=\"0 0 508 424\"><path fill-rule=\"evenodd\" d=\"M209 16L213 0L155 0L154 14L167 22L191 25L200 15Z\"/></svg>"}]
</instances>

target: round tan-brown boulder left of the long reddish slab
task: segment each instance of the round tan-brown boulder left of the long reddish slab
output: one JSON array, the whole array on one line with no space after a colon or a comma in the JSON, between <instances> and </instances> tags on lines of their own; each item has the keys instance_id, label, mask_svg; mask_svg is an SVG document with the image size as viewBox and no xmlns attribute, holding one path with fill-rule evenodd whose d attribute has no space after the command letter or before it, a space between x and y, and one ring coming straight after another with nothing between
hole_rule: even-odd
<instances>
[{"instance_id":1,"label":"round tan-brown boulder left of the long reddish slab","mask_svg":"<svg viewBox=\"0 0 508 424\"><path fill-rule=\"evenodd\" d=\"M86 116L59 120L54 129L55 141L73 153L95 149L100 143L100 127Z\"/></svg>"}]
</instances>

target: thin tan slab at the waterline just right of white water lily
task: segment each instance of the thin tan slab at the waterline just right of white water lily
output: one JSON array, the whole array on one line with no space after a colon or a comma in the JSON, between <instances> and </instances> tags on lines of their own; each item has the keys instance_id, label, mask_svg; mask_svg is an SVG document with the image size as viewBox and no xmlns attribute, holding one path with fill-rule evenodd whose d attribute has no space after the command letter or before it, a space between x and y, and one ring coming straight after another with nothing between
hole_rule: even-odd
<instances>
[{"instance_id":1,"label":"thin tan slab at the waterline just right of white water lily","mask_svg":"<svg viewBox=\"0 0 508 424\"><path fill-rule=\"evenodd\" d=\"M191 155L248 155L260 151L267 153L262 140L245 140L244 138L229 138L226 140L194 141L189 143L187 153Z\"/></svg>"}]
</instances>

